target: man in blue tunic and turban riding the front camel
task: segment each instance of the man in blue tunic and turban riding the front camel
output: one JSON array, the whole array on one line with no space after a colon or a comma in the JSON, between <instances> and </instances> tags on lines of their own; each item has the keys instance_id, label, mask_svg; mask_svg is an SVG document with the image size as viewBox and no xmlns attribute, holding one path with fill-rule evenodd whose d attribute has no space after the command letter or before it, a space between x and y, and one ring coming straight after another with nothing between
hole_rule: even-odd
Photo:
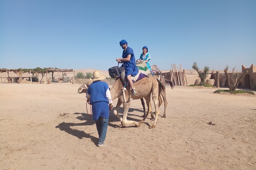
<instances>
[{"instance_id":1,"label":"man in blue tunic and turban riding the front camel","mask_svg":"<svg viewBox=\"0 0 256 170\"><path fill-rule=\"evenodd\" d=\"M116 61L118 63L124 63L122 64L121 67L124 67L126 75L125 77L127 78L130 87L132 88L132 94L137 95L135 88L133 86L132 79L130 78L131 76L135 76L138 74L139 70L138 67L135 64L135 56L132 48L127 47L127 41L126 40L121 40L119 42L120 47L124 49L122 53L122 58L117 58Z\"/></svg>"}]
</instances>

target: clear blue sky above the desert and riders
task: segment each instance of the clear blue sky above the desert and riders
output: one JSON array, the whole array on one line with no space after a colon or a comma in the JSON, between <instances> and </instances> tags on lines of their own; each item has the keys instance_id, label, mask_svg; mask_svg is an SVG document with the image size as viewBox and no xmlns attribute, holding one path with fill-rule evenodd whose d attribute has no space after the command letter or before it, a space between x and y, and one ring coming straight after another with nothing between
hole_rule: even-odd
<instances>
[{"instance_id":1,"label":"clear blue sky above the desert and riders","mask_svg":"<svg viewBox=\"0 0 256 170\"><path fill-rule=\"evenodd\" d=\"M0 68L107 70L126 39L150 64L256 64L256 0L0 0Z\"/></svg>"}]
</instances>

